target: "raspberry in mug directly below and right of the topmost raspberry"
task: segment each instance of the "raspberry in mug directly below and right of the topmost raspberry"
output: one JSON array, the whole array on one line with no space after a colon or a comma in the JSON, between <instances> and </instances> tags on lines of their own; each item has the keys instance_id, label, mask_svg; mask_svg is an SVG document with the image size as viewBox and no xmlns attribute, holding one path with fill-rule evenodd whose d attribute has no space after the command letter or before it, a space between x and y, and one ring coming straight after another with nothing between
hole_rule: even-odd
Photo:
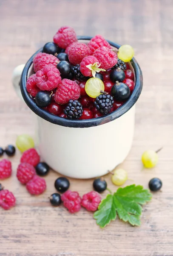
<instances>
[{"instance_id":1,"label":"raspberry in mug directly below and right of the topmost raspberry","mask_svg":"<svg viewBox=\"0 0 173 256\"><path fill-rule=\"evenodd\" d=\"M86 44L73 44L68 50L68 59L71 64L80 64L85 56L90 55L90 49Z\"/></svg>"}]
</instances>

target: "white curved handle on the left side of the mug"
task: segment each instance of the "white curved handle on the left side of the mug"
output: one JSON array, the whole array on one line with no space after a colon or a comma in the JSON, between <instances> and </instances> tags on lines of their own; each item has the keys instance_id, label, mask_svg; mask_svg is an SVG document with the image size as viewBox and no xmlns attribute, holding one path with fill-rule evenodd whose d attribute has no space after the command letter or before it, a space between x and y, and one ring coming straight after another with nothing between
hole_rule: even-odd
<instances>
[{"instance_id":1,"label":"white curved handle on the left side of the mug","mask_svg":"<svg viewBox=\"0 0 173 256\"><path fill-rule=\"evenodd\" d=\"M24 67L25 67L25 64L21 64L15 67L12 74L12 83L13 83L14 90L16 91L19 98L22 100L23 100L23 97L20 91L20 77L22 75Z\"/></svg>"}]
</instances>

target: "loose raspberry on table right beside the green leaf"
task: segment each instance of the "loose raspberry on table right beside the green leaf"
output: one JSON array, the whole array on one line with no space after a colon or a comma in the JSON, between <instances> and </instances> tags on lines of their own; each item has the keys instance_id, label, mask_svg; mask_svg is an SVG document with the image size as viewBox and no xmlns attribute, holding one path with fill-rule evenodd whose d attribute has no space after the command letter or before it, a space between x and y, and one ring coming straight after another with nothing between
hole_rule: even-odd
<instances>
[{"instance_id":1,"label":"loose raspberry on table right beside the green leaf","mask_svg":"<svg viewBox=\"0 0 173 256\"><path fill-rule=\"evenodd\" d=\"M95 212L101 202L101 195L96 191L91 191L82 196L82 206L88 211Z\"/></svg>"}]
</instances>

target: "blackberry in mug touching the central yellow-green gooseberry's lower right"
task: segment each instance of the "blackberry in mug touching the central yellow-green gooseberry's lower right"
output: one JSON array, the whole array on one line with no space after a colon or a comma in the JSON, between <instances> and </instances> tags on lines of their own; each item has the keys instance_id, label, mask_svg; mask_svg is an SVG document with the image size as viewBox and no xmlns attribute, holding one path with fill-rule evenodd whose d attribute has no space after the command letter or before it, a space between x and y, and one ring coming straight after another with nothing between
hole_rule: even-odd
<instances>
[{"instance_id":1,"label":"blackberry in mug touching the central yellow-green gooseberry's lower right","mask_svg":"<svg viewBox=\"0 0 173 256\"><path fill-rule=\"evenodd\" d=\"M113 97L110 94L103 93L96 97L94 102L96 109L99 110L104 115L108 114L113 107Z\"/></svg>"}]
</instances>

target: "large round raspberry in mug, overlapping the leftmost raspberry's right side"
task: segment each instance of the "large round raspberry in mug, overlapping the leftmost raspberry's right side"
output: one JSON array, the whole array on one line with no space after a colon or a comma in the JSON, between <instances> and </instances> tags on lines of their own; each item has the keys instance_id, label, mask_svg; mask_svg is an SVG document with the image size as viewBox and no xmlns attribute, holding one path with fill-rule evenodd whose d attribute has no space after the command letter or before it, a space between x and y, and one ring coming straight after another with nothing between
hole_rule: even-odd
<instances>
[{"instance_id":1,"label":"large round raspberry in mug, overlapping the leftmost raspberry's right side","mask_svg":"<svg viewBox=\"0 0 173 256\"><path fill-rule=\"evenodd\" d=\"M35 81L40 90L53 90L61 82L60 71L53 65L46 65L37 71Z\"/></svg>"}]
</instances>

